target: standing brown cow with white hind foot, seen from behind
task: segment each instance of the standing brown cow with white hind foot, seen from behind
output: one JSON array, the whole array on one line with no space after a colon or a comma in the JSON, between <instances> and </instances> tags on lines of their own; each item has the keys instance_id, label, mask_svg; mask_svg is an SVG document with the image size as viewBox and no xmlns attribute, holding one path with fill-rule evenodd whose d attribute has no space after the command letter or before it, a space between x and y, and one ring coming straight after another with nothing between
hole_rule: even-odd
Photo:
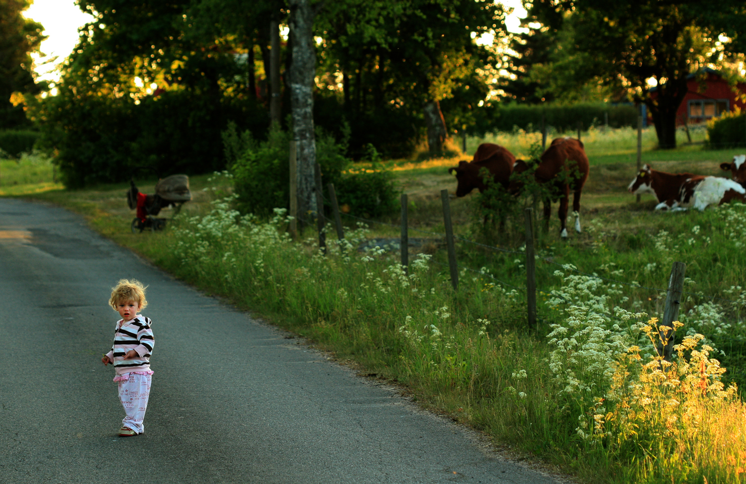
<instances>
[{"instance_id":1,"label":"standing brown cow with white hind foot, seen from behind","mask_svg":"<svg viewBox=\"0 0 746 484\"><path fill-rule=\"evenodd\" d=\"M520 175L528 169L524 160L516 160L513 174ZM580 233L580 192L588 179L589 163L583 142L580 139L557 138L542 154L539 166L536 167L534 177L539 183L552 183L559 191L557 198L560 199L560 236L567 237L567 207L570 199L570 190L573 191L572 210L575 214L575 230ZM564 174L564 176L560 176ZM521 189L521 181L512 177L509 191L517 193ZM551 213L551 202L554 199L544 201L544 219L549 227L549 216Z\"/></svg>"}]
</instances>

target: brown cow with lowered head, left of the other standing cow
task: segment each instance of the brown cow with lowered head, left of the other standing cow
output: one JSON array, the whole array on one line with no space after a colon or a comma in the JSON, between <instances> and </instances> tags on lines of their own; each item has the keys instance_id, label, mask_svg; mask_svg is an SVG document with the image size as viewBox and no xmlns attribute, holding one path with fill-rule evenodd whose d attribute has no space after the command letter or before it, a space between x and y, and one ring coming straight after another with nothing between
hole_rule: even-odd
<instances>
[{"instance_id":1,"label":"brown cow with lowered head, left of the other standing cow","mask_svg":"<svg viewBox=\"0 0 746 484\"><path fill-rule=\"evenodd\" d=\"M482 168L489 171L492 180L507 188L508 183L510 183L510 174L513 173L514 163L513 153L507 151L501 145L482 143L477 148L477 152L474 153L474 160L471 160L471 163L460 161L459 166L449 168L448 173L456 176L458 182L456 196L463 197L475 188L480 193L487 188L483 177L480 176Z\"/></svg>"}]
</instances>

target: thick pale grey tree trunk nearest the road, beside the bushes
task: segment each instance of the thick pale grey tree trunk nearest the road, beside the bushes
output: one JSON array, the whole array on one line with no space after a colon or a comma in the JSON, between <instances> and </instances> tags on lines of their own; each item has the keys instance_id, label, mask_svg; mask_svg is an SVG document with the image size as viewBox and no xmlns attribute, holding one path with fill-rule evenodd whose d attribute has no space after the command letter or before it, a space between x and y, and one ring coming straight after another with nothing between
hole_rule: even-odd
<instances>
[{"instance_id":1,"label":"thick pale grey tree trunk nearest the road, beside the bushes","mask_svg":"<svg viewBox=\"0 0 746 484\"><path fill-rule=\"evenodd\" d=\"M316 76L316 50L313 45L313 18L316 12L309 0L290 0L292 68L290 101L292 134L298 156L298 213L316 212L316 136L313 131L313 86ZM302 220L301 227L302 225Z\"/></svg>"}]
</instances>

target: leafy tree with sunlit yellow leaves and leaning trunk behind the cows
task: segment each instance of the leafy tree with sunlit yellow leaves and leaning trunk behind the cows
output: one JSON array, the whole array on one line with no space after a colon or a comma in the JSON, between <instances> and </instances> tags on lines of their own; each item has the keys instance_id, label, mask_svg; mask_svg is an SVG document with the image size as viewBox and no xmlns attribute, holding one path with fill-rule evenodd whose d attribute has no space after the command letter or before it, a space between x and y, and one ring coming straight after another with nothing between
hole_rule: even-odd
<instances>
[{"instance_id":1,"label":"leafy tree with sunlit yellow leaves and leaning trunk behind the cows","mask_svg":"<svg viewBox=\"0 0 746 484\"><path fill-rule=\"evenodd\" d=\"M458 92L476 108L484 98L486 78L477 71L490 53L472 36L494 30L502 19L498 5L473 0L348 0L325 13L320 30L338 60L346 115L353 123L366 119L370 131L376 124L371 117L416 113L427 128L430 153L440 154L451 132L441 102ZM468 118L462 114L461 120Z\"/></svg>"}]
</instances>

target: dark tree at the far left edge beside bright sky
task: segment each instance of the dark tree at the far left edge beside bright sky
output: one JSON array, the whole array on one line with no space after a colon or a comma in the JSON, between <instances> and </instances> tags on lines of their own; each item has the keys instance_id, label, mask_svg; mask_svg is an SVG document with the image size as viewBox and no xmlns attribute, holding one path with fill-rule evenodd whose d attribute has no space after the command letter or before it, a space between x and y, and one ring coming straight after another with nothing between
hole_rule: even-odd
<instances>
[{"instance_id":1,"label":"dark tree at the far left edge beside bright sky","mask_svg":"<svg viewBox=\"0 0 746 484\"><path fill-rule=\"evenodd\" d=\"M22 12L31 6L28 0L0 1L0 128L14 128L27 121L21 105L13 106L13 92L35 94L31 52L38 52L46 36L39 22L25 19Z\"/></svg>"}]
</instances>

